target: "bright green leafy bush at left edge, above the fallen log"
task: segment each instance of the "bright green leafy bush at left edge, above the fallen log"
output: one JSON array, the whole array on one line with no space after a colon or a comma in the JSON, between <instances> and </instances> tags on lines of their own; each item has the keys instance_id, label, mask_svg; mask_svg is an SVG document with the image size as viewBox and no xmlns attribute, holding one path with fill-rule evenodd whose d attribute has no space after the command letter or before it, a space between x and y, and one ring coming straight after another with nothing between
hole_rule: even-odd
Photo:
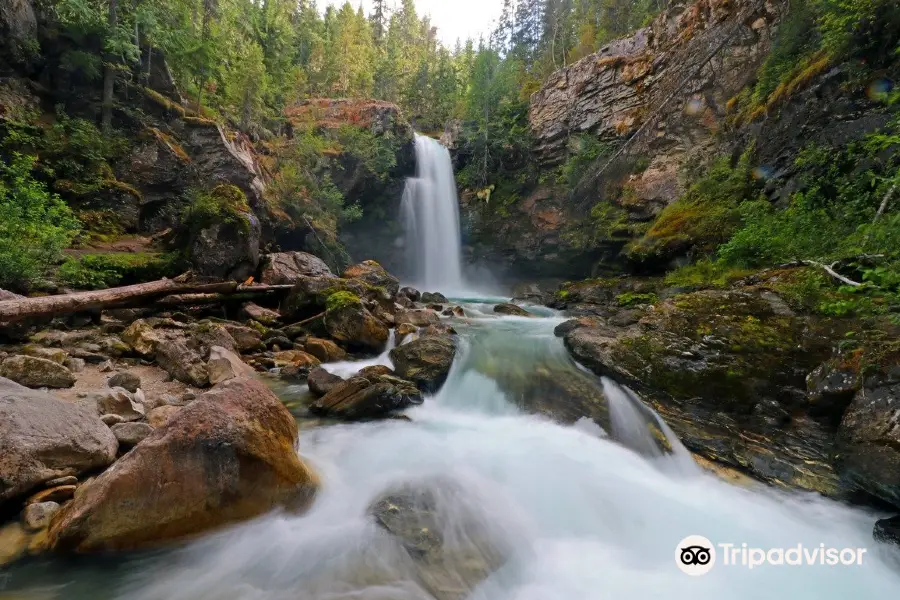
<instances>
[{"instance_id":1,"label":"bright green leafy bush at left edge, above the fallen log","mask_svg":"<svg viewBox=\"0 0 900 600\"><path fill-rule=\"evenodd\" d=\"M72 211L32 176L35 159L0 162L0 286L27 290L78 232Z\"/></svg>"}]
</instances>

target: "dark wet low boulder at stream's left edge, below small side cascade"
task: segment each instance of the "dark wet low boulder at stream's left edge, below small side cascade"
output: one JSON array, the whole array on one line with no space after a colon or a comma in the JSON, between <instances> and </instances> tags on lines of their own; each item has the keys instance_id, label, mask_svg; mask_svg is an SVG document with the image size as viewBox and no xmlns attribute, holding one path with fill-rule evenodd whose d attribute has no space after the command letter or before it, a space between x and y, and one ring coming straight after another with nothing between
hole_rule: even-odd
<instances>
[{"instance_id":1,"label":"dark wet low boulder at stream's left edge, below small side cascade","mask_svg":"<svg viewBox=\"0 0 900 600\"><path fill-rule=\"evenodd\" d=\"M336 384L310 405L311 413L348 421L383 418L422 403L422 394L408 381L387 375L352 377Z\"/></svg>"}]
</instances>

